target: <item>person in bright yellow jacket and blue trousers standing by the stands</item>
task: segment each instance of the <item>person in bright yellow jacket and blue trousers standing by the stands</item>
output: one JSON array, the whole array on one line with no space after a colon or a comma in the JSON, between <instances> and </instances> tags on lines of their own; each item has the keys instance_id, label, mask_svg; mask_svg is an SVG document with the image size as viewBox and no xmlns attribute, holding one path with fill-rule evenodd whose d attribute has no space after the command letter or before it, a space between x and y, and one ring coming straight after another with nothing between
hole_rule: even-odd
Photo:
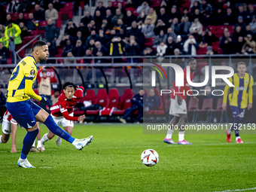
<instances>
[{"instance_id":1,"label":"person in bright yellow jacket and blue trousers standing by the stands","mask_svg":"<svg viewBox=\"0 0 256 192\"><path fill-rule=\"evenodd\" d=\"M22 40L20 37L21 30L20 26L17 24L11 23L11 20L8 21L8 26L5 27L5 38L9 39L9 50L12 51L13 62L14 56L16 56L15 48L17 44L21 44Z\"/></svg>"}]
</instances>

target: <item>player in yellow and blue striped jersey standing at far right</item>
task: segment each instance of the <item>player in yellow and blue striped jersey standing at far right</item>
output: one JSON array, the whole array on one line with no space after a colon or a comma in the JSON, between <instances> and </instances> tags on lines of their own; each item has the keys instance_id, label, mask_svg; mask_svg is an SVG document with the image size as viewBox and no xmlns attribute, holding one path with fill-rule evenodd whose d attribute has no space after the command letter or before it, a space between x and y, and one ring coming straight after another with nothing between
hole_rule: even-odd
<instances>
[{"instance_id":1,"label":"player in yellow and blue striped jersey standing at far right","mask_svg":"<svg viewBox=\"0 0 256 192\"><path fill-rule=\"evenodd\" d=\"M227 94L230 90L228 97L234 121L230 130L226 130L227 142L231 142L231 133L235 130L236 143L243 143L239 136L239 123L242 123L242 119L245 117L245 108L248 108L248 110L252 108L252 86L254 80L251 75L246 73L247 68L245 62L237 63L236 70L238 73L228 79L235 87L229 87L226 85L224 89L222 108L224 110L227 109Z\"/></svg>"}]
</instances>

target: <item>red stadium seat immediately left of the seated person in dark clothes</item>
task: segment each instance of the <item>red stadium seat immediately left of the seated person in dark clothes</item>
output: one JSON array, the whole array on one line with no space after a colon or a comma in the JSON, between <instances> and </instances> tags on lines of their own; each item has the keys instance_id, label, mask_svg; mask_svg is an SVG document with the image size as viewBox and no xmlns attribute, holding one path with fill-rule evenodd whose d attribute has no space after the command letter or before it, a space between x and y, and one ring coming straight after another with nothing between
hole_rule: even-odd
<instances>
[{"instance_id":1,"label":"red stadium seat immediately left of the seated person in dark clothes","mask_svg":"<svg viewBox=\"0 0 256 192\"><path fill-rule=\"evenodd\" d=\"M130 108L132 106L131 99L133 98L133 90L126 89L123 92L123 96L120 96L120 102L117 106L120 110L114 110L113 114L122 115L126 108Z\"/></svg>"}]
</instances>

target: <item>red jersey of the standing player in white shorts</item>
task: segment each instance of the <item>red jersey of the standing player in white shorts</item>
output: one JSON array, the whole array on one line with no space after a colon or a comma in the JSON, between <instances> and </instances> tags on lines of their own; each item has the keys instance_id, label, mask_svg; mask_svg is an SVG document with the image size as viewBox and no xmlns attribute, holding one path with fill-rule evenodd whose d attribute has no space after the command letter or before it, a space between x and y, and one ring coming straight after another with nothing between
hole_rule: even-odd
<instances>
[{"instance_id":1,"label":"red jersey of the standing player in white shorts","mask_svg":"<svg viewBox=\"0 0 256 192\"><path fill-rule=\"evenodd\" d=\"M171 98L175 99L175 96L181 96L182 99L187 99L187 90L190 90L190 85L187 83L187 68L183 69L184 73L184 86L183 87L176 87L175 86L175 81L173 82L173 89L172 90L172 95ZM194 72L190 72L190 80L193 81L194 79ZM174 95L175 92L175 95ZM189 93L189 94L192 94Z\"/></svg>"}]
</instances>

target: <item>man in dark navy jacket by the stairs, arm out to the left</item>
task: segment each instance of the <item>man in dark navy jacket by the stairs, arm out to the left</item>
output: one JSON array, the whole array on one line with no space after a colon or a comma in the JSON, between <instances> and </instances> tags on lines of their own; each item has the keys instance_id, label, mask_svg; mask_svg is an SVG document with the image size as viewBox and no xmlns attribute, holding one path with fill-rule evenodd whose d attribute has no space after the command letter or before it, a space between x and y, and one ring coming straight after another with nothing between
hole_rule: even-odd
<instances>
[{"instance_id":1,"label":"man in dark navy jacket by the stairs, arm out to the left","mask_svg":"<svg viewBox=\"0 0 256 192\"><path fill-rule=\"evenodd\" d=\"M47 20L47 26L39 26L39 30L44 30L44 38L47 42L50 42L56 46L56 39L59 38L59 28L53 25L51 19Z\"/></svg>"}]
</instances>

